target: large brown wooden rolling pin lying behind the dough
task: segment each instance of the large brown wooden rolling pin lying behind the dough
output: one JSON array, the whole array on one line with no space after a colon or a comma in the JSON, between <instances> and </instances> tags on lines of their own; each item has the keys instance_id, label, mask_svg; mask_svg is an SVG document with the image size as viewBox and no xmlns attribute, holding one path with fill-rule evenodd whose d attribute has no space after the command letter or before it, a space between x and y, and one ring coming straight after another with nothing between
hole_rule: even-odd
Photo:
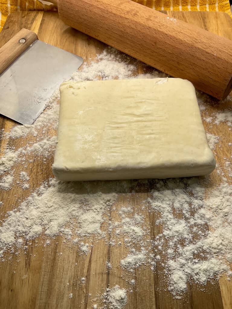
<instances>
[{"instance_id":1,"label":"large brown wooden rolling pin lying behind the dough","mask_svg":"<svg viewBox=\"0 0 232 309\"><path fill-rule=\"evenodd\" d=\"M58 13L67 25L217 99L232 90L231 40L131 0L58 0Z\"/></svg>"}]
</instances>

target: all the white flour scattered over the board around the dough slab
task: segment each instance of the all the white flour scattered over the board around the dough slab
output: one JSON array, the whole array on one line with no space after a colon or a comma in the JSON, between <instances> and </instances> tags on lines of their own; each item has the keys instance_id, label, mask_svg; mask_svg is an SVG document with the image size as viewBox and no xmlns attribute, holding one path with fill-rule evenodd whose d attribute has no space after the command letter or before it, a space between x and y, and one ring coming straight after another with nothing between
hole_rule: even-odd
<instances>
[{"instance_id":1,"label":"all the white flour scattered over the board around the dough slab","mask_svg":"<svg viewBox=\"0 0 232 309\"><path fill-rule=\"evenodd\" d=\"M98 80L133 78L137 66L147 68L148 74L139 78L167 77L139 61L112 48L98 55L96 61L84 63L71 80ZM167 79L165 79L166 81ZM213 134L212 126L226 122L230 133L232 112L208 112L211 98L197 92L200 111L207 127L210 148L217 155L222 145L231 148L226 136ZM113 257L102 261L106 272L122 270L123 279L138 290L135 270L146 268L157 272L162 288L176 298L183 297L189 282L205 285L226 274L232 275L232 176L231 157L224 158L224 165L217 163L215 172L221 179L214 184L212 178L193 177L168 180L127 180L63 183L52 178L51 164L56 145L59 92L54 93L46 110L33 125L16 125L1 131L2 141L17 139L17 147L5 143L0 159L1 213L6 213L0 226L0 257L8 259L6 252L20 256L25 242L43 236L43 249L51 239L61 235L64 242L76 246L81 259L97 250L96 241L105 246L126 252L115 263ZM230 102L228 97L226 102ZM229 134L228 133L228 134ZM30 139L29 139L30 138ZM30 141L28 141L30 140ZM216 152L215 152L216 154ZM231 153L232 155L232 153ZM33 181L40 175L33 169L33 162L47 168L49 180L42 180L38 187ZM16 172L15 167L20 167ZM19 169L19 168L18 168ZM19 174L17 174L19 173ZM24 194L24 190L32 191ZM11 191L12 190L12 191ZM11 192L17 195L15 205L5 209ZM16 192L16 193L15 193ZM140 203L132 205L138 193ZM142 195L141 195L142 194ZM210 228L208 229L208 226ZM151 239L150 235L153 238ZM22 251L22 249L24 249ZM39 247L37 247L39 250ZM62 258L62 253L59 253ZM101 261L99 261L101 263ZM80 284L85 284L85 277ZM144 279L145 280L145 279ZM93 300L94 308L121 309L128 303L129 291L117 282ZM144 283L142 283L144 284ZM120 284L121 285L121 284ZM202 288L202 287L201 287ZM75 295L69 292L68 297Z\"/></svg>"}]
</instances>

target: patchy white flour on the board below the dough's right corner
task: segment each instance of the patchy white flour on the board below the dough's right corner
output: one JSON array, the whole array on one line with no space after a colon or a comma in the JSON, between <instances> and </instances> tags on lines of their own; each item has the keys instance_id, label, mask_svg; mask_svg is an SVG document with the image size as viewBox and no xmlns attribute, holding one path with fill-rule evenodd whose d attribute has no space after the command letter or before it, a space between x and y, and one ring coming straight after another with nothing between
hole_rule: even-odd
<instances>
[{"instance_id":1,"label":"patchy white flour on the board below the dough's right corner","mask_svg":"<svg viewBox=\"0 0 232 309\"><path fill-rule=\"evenodd\" d=\"M149 199L152 210L160 213L156 224L162 226L153 248L160 254L164 244L167 248L166 273L174 295L184 292L189 280L206 284L229 270L226 256L232 250L232 186L224 183L212 188L206 198L206 185L197 178L183 183L167 180L163 186L159 181L160 189ZM213 230L208 231L205 224Z\"/></svg>"}]
</instances>

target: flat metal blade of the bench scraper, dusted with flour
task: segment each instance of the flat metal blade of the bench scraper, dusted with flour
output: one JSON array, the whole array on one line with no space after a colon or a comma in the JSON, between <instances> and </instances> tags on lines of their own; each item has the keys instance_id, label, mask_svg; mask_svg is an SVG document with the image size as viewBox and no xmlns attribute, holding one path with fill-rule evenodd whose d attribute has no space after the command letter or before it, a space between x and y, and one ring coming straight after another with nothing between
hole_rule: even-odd
<instances>
[{"instance_id":1,"label":"flat metal blade of the bench scraper, dusted with flour","mask_svg":"<svg viewBox=\"0 0 232 309\"><path fill-rule=\"evenodd\" d=\"M83 59L36 40L0 75L0 113L31 125Z\"/></svg>"}]
</instances>

